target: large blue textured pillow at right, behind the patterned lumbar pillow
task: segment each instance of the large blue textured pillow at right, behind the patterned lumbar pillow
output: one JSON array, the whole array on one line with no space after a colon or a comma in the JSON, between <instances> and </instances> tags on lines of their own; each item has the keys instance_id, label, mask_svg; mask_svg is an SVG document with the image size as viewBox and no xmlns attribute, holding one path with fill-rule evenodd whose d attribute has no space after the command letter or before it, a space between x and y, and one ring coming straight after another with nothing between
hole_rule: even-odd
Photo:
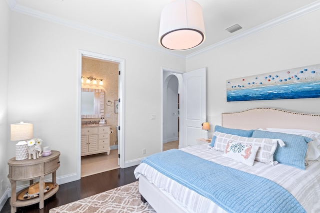
<instances>
[{"instance_id":1,"label":"large blue textured pillow at right, behind the patterned lumbar pillow","mask_svg":"<svg viewBox=\"0 0 320 213\"><path fill-rule=\"evenodd\" d=\"M254 130L252 137L281 139L285 146L276 147L273 155L274 160L278 161L280 164L296 167L301 170L305 169L304 157L307 149L307 143L312 141L311 138L281 132L268 132L260 130Z\"/></svg>"}]
</instances>

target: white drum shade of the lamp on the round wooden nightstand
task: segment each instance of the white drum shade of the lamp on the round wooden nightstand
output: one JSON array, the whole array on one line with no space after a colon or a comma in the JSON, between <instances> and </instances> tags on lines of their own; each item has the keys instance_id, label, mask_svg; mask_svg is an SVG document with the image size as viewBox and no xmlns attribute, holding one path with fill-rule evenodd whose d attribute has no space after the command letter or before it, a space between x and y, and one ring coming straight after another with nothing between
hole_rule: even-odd
<instances>
[{"instance_id":1,"label":"white drum shade of the lamp on the round wooden nightstand","mask_svg":"<svg viewBox=\"0 0 320 213\"><path fill-rule=\"evenodd\" d=\"M11 124L11 141L19 141L26 140L33 137L33 125L32 123L19 123L19 124Z\"/></svg>"}]
</instances>

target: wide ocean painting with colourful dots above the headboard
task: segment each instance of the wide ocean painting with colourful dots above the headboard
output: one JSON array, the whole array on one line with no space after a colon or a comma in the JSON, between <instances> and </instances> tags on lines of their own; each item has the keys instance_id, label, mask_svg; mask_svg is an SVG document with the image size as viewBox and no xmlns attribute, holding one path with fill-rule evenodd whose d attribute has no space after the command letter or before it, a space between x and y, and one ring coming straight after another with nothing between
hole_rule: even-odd
<instances>
[{"instance_id":1,"label":"wide ocean painting with colourful dots above the headboard","mask_svg":"<svg viewBox=\"0 0 320 213\"><path fill-rule=\"evenodd\" d=\"M320 64L226 81L226 101L320 97Z\"/></svg>"}]
</instances>

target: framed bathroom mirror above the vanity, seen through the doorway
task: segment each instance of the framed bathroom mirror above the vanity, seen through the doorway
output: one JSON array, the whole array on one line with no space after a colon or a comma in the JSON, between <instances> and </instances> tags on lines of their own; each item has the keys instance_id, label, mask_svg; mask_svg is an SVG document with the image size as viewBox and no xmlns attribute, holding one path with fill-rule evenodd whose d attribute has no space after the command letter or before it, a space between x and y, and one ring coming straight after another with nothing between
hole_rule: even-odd
<instances>
[{"instance_id":1,"label":"framed bathroom mirror above the vanity, seen through the doorway","mask_svg":"<svg viewBox=\"0 0 320 213\"><path fill-rule=\"evenodd\" d=\"M81 118L104 117L104 91L81 88Z\"/></svg>"}]
</instances>

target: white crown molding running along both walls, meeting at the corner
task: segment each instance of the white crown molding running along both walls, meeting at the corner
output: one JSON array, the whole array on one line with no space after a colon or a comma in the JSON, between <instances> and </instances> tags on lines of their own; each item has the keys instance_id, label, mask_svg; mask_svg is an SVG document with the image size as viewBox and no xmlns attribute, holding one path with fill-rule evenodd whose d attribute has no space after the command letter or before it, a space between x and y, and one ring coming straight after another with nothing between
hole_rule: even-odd
<instances>
[{"instance_id":1,"label":"white crown molding running along both walls, meeting at the corner","mask_svg":"<svg viewBox=\"0 0 320 213\"><path fill-rule=\"evenodd\" d=\"M67 20L67 19L59 18L59 17L54 16L54 15L50 15L50 14L47 14L47 13L44 13L44 12L41 12L41 11L38 11L38 10L34 10L34 9L31 9L31 8L28 8L28 7L25 7L25 6L21 6L21 5L17 4L15 0L6 0L6 1L7 1L8 5L9 5L9 7L10 7L10 9L12 11L16 11L16 12L20 12L20 13L23 13L23 14L31 15L31 16L34 16L34 17L37 17L37 18L41 18L41 19L44 19L44 20L48 20L48 21L54 22L54 23L62 24L62 25L68 26L68 27L72 27L72 28L75 28L75 29L79 29L79 30L82 30L82 31L93 33L93 34L96 34L96 35L99 35L99 36L103 36L103 37L106 37L106 38L114 39L114 40L117 40L117 41L120 41L120 42L124 42L124 43L129 43L129 44L136 45L136 46L139 46L139 47L144 47L144 48L147 48L147 49L151 49L151 50L154 50L154 51L162 52L162 53L169 54L169 55L172 55L172 56L175 56L175 57L179 57L179 58L183 58L183 59L187 59L187 58L196 56L198 54L204 53L206 51L209 51L211 49L218 48L218 47L226 45L226 44L228 44L230 42L233 42L233 41L248 37L250 35L256 34L256 33L261 32L263 30L266 30L266 29L269 29L269 28L274 27L276 25L282 24L282 23L284 23L286 21L292 20L292 19L297 18L299 16L302 16L302 15L305 15L305 14L310 13L312 11L315 11L317 9L320 9L320 0L314 1L314 2L312 2L310 4L307 4L307 5L299 8L299 9L293 10L293 11L287 13L287 14L281 15L281 16L279 16L277 18L274 18L274 19L272 19L270 21L267 21L267 22L262 23L262 24L260 24L258 26L255 26L255 27L250 28L248 30L245 30L245 31L243 31L241 33L238 33L238 34L236 34L236 35L234 35L232 37L229 37L227 39L224 39L222 41L214 43L214 44L212 44L210 46L207 46L207 47L205 47L203 49L197 50L197 51L195 51L193 53L190 53L190 54L188 54L186 56L183 56L183 55L177 54L174 51L163 49L160 46L159 47L154 47L152 45L149 45L149 44L146 44L144 42L140 42L140 41L128 38L128 37L116 35L116 34L113 34L113 33L110 33L110 32L104 31L104 30L100 30L100 29L97 29L97 28L94 28L94 27L91 27L91 26L88 26L88 25L85 25L85 24L81 24L81 23L78 23L78 22L74 22L74 21L70 21L70 20Z\"/></svg>"}]
</instances>

